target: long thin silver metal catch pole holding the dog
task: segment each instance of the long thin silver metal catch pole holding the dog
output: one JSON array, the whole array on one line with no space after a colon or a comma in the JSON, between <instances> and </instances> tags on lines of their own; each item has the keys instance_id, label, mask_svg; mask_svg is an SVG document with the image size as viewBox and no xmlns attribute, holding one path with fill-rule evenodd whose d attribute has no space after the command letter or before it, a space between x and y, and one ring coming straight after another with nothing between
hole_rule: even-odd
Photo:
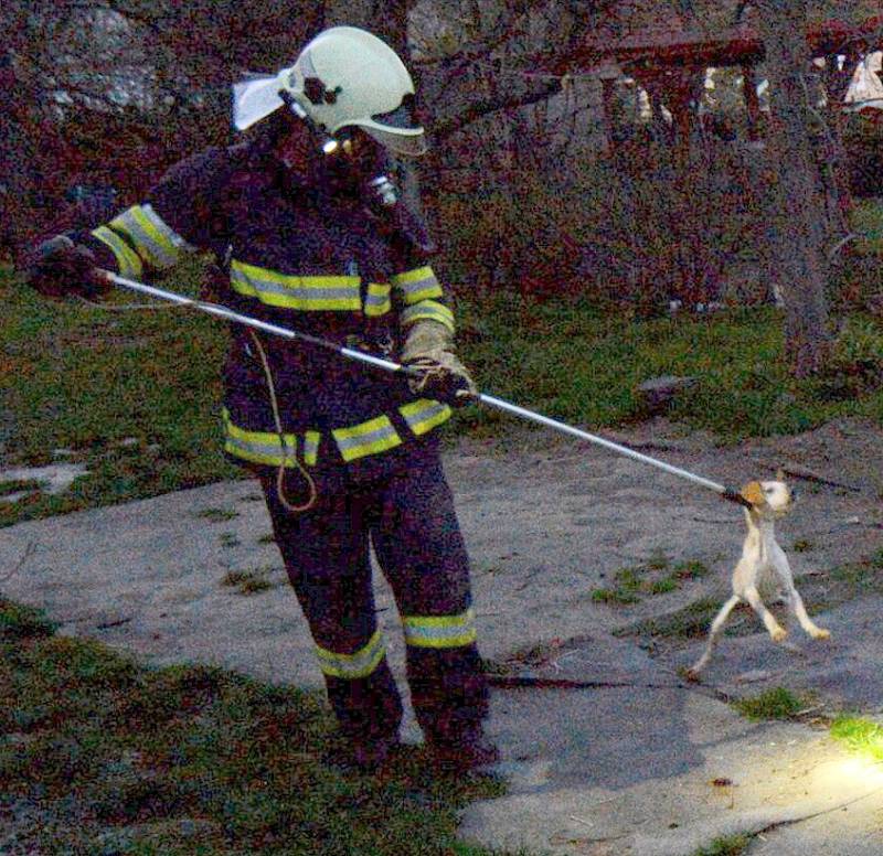
<instances>
[{"instance_id":1,"label":"long thin silver metal catch pole holding the dog","mask_svg":"<svg viewBox=\"0 0 883 856\"><path fill-rule=\"evenodd\" d=\"M416 372L409 370L407 366L403 366L401 363L395 363L392 360L384 360L383 357L368 354L364 351L339 345L334 342L328 341L327 339L320 339L319 336L310 335L309 333L300 333L296 330L279 327L278 324L260 321L259 319L252 318L251 315L244 315L240 312L234 312L232 309L227 309L227 307L224 306L219 306L217 303L210 303L204 300L194 300L193 298L184 297L183 295L178 295L173 291L166 291L164 289L157 288L156 286L148 286L143 282L136 282L135 280L126 279L125 277L120 277L110 271L102 272L114 285L121 286L123 288L127 288L131 291L138 291L142 295L148 295L149 297L153 297L159 300L178 303L182 307L190 307L191 309L196 309L200 312L205 312L210 315L215 315L216 318L223 318L226 321L233 321L237 324L244 324L245 327L251 327L255 330L263 330L265 333L281 336L283 339L307 342L326 350L337 351L337 353L341 354L341 356L345 356L349 360L355 360L360 363L365 363L368 365L375 366L376 368L383 368L387 372L416 374ZM589 434L581 428L575 428L574 426L558 421L557 419L552 419L549 416L543 416L534 410L529 410L525 407L519 407L518 405L510 404L509 402L506 402L502 398L497 398L492 395L486 395L485 393L481 393L478 396L478 400L488 407L503 410L504 413L512 414L521 419L526 419L529 421L536 422L538 425L543 425L546 428L552 428L561 434L566 434L571 437L586 440L587 442L600 446L609 451L616 452L617 454L631 458L635 461L646 463L650 467L656 467L658 470L668 472L671 475L677 475L678 478L685 479L693 484L698 484L702 488L714 491L724 500L735 502L745 507L751 507L751 503L744 496L742 496L738 491L727 488L724 484L710 481L709 479L703 479L701 475L695 475L694 473L683 470L680 467L672 467L670 463L651 458L648 454L641 454L641 452L637 452L626 446L620 446L611 440L605 440L603 437Z\"/></svg>"}]
</instances>

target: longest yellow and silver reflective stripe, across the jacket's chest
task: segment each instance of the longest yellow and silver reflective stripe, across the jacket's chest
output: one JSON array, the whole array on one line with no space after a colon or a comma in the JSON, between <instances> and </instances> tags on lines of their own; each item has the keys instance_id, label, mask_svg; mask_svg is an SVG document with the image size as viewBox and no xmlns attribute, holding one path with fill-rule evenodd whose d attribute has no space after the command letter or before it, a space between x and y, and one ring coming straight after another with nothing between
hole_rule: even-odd
<instances>
[{"instance_id":1,"label":"longest yellow and silver reflective stripe, across the jacket's chest","mask_svg":"<svg viewBox=\"0 0 883 856\"><path fill-rule=\"evenodd\" d=\"M352 312L362 309L359 277L299 277L234 260L230 282L234 291L283 309Z\"/></svg>"}]
</instances>

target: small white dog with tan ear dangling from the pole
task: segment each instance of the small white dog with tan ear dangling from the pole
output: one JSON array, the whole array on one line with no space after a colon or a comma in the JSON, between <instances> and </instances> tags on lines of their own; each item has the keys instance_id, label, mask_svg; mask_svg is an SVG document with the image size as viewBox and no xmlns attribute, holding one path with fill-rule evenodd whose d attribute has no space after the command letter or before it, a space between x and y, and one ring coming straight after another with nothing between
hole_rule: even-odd
<instances>
[{"instance_id":1,"label":"small white dog with tan ear dangling from the pole","mask_svg":"<svg viewBox=\"0 0 883 856\"><path fill-rule=\"evenodd\" d=\"M740 493L751 504L745 509L748 534L742 546L742 558L733 570L733 597L724 603L715 617L709 633L709 642L702 656L688 670L687 676L693 681L708 665L726 619L742 600L747 601L760 617L774 642L781 642L788 631L779 624L776 617L764 606L764 598L784 597L789 611L800 627L813 639L828 639L830 632L816 627L807 614L804 601L795 588L791 567L785 550L776 541L775 525L778 517L786 515L794 497L779 470L776 481L749 482Z\"/></svg>"}]
</instances>

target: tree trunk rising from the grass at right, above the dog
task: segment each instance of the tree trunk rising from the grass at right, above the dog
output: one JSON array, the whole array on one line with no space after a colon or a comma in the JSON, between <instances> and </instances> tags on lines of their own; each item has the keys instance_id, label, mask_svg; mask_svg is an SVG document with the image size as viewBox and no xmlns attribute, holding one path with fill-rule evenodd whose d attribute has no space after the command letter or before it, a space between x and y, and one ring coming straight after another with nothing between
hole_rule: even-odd
<instances>
[{"instance_id":1,"label":"tree trunk rising from the grass at right, above the dog","mask_svg":"<svg viewBox=\"0 0 883 856\"><path fill-rule=\"evenodd\" d=\"M817 373L830 347L825 205L809 133L810 56L804 33L807 0L757 3L766 47L773 118L769 256L773 281L785 300L786 357L796 377Z\"/></svg>"}]
</instances>

